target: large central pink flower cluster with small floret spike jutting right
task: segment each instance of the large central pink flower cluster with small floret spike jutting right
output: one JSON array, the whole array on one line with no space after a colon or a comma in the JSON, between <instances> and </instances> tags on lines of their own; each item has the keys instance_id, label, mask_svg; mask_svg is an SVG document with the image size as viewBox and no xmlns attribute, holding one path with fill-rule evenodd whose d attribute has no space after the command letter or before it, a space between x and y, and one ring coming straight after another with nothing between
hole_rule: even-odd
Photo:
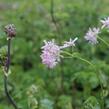
<instances>
[{"instance_id":1,"label":"large central pink flower cluster with small floret spike jutting right","mask_svg":"<svg viewBox=\"0 0 109 109\"><path fill-rule=\"evenodd\" d=\"M42 63L46 65L48 68L54 68L58 62L60 62L60 53L61 50L70 46L75 45L75 41L70 39L70 41L65 42L63 46L58 46L54 40L52 41L44 41L44 46L42 47L41 59Z\"/></svg>"}]
</instances>

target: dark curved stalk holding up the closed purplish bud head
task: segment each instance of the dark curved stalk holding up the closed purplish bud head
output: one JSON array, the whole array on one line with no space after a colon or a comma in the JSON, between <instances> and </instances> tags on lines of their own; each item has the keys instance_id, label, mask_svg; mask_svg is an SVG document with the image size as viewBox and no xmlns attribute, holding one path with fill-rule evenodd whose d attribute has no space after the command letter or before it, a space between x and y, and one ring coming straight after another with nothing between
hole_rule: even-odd
<instances>
[{"instance_id":1,"label":"dark curved stalk holding up the closed purplish bud head","mask_svg":"<svg viewBox=\"0 0 109 109\"><path fill-rule=\"evenodd\" d=\"M9 102L13 105L14 109L18 109L15 101L13 100L13 98L11 97L11 95L9 94L9 90L8 90L8 72L9 72L9 68L10 68L10 46L11 46L11 39L8 39L8 53L7 53L7 61L6 61L6 65L5 65L5 73L4 73L4 89L5 89L5 94L9 100Z\"/></svg>"}]
</instances>

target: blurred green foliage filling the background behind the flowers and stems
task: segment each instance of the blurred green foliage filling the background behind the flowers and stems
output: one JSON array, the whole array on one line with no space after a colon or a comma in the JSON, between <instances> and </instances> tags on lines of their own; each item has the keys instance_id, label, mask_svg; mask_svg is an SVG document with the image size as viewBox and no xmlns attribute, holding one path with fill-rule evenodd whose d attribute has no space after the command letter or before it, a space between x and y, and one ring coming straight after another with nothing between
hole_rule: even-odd
<instances>
[{"instance_id":1,"label":"blurred green foliage filling the background behind the flowers and stems","mask_svg":"<svg viewBox=\"0 0 109 109\"><path fill-rule=\"evenodd\" d=\"M58 34L51 19L50 0L0 0L0 56L7 44L3 27L13 23L17 28L11 46L9 89L18 106L22 109L102 109L100 96L103 95L105 109L109 108L109 48L102 42L91 46L83 38L89 27L100 25L99 20L108 16L108 6L108 0L54 0ZM101 37L109 43L108 35L104 31ZM75 36L79 40L73 51L100 69L103 92L98 73L86 63L64 59L53 70L42 65L40 48L44 39L63 42ZM0 109L12 109L4 94L2 69L0 72ZM33 84L36 92L31 92Z\"/></svg>"}]
</instances>

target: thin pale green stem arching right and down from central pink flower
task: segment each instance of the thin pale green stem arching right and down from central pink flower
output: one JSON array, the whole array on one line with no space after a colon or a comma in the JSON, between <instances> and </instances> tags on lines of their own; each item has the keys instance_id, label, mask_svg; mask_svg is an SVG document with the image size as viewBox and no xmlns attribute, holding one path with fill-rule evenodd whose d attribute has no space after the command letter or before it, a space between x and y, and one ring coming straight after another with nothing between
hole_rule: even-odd
<instances>
[{"instance_id":1,"label":"thin pale green stem arching right and down from central pink flower","mask_svg":"<svg viewBox=\"0 0 109 109\"><path fill-rule=\"evenodd\" d=\"M102 93L103 93L103 85L102 85L102 83L101 83L101 78L100 78L101 72L98 71L98 70L95 68L95 65L94 65L94 64L92 64L91 62L89 62L88 60L86 60L86 59L84 59L84 58L81 58L80 56L77 56L77 53L71 54L71 53L66 52L66 51L62 51L62 53L66 54L66 55L68 55L68 56L71 56L71 57L73 57L73 58L77 58L77 59L79 59L79 60L81 60L81 61L83 61L83 62L85 62L85 63L91 65L91 66L96 70L96 72L97 72L98 80L99 80L100 87L101 87L101 90L102 90ZM103 97L103 96L101 96L101 100L102 100L102 106L101 106L101 107L102 107L102 109L104 109L104 97Z\"/></svg>"}]
</instances>

